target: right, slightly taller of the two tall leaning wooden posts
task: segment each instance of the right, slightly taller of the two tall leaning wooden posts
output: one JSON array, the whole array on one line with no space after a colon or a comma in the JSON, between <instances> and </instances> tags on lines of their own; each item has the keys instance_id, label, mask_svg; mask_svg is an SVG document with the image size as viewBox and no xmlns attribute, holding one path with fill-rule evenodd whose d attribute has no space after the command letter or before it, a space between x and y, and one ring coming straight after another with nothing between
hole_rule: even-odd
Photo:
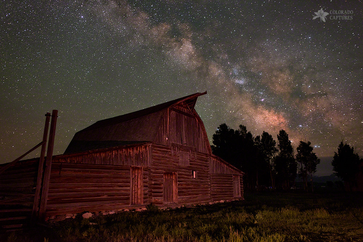
<instances>
[{"instance_id":1,"label":"right, slightly taller of the two tall leaning wooden posts","mask_svg":"<svg viewBox=\"0 0 363 242\"><path fill-rule=\"evenodd\" d=\"M47 199L48 199L50 170L52 168L52 158L53 158L54 136L56 134L56 124L57 124L57 117L58 117L57 114L58 114L58 110L53 110L52 122L50 122L48 149L47 149L47 153L46 153L45 168L44 168L43 188L42 188L42 194L41 194L41 198L40 198L40 207L39 207L39 220L41 220L41 221L43 221L44 217L45 217L45 210L46 210L46 204L47 204Z\"/></svg>"}]
</instances>

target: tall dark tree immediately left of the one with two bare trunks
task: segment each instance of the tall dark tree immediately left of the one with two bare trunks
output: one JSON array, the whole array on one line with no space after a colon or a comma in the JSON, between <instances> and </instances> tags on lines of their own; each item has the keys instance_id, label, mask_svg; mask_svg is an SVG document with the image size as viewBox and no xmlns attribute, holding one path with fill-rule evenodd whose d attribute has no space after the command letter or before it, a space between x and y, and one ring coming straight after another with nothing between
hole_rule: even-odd
<instances>
[{"instance_id":1,"label":"tall dark tree immediately left of the one with two bare trunks","mask_svg":"<svg viewBox=\"0 0 363 242\"><path fill-rule=\"evenodd\" d=\"M290 181L295 181L297 163L294 158L294 148L289 140L289 135L281 129L277 135L278 154L275 158L276 179L282 189L290 187Z\"/></svg>"}]
</instances>

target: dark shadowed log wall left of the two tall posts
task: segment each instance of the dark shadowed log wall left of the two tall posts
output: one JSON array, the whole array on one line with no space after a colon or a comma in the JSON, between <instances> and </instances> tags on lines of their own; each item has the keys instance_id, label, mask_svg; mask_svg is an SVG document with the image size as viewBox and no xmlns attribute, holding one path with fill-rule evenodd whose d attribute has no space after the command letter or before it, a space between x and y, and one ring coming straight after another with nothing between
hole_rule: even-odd
<instances>
[{"instance_id":1,"label":"dark shadowed log wall left of the two tall posts","mask_svg":"<svg viewBox=\"0 0 363 242\"><path fill-rule=\"evenodd\" d=\"M18 162L0 175L0 204L32 207L39 159Z\"/></svg>"}]
</instances>

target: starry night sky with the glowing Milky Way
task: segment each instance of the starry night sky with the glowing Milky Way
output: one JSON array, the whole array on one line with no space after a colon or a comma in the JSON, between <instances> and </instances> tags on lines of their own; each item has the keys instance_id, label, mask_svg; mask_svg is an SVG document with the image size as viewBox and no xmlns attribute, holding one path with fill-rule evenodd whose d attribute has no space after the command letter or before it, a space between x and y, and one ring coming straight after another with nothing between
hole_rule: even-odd
<instances>
[{"instance_id":1,"label":"starry night sky with the glowing Milky Way","mask_svg":"<svg viewBox=\"0 0 363 242\"><path fill-rule=\"evenodd\" d=\"M41 141L52 109L62 154L98 120L204 91L210 141L222 123L284 129L314 145L317 175L342 140L363 157L360 1L156 2L1 1L0 163Z\"/></svg>"}]
</instances>

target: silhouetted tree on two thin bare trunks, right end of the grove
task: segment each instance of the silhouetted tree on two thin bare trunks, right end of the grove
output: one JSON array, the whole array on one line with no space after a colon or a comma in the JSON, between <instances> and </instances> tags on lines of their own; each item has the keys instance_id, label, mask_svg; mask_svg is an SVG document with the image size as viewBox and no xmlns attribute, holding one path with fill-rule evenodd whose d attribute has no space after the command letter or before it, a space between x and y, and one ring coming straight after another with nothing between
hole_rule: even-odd
<instances>
[{"instance_id":1,"label":"silhouetted tree on two thin bare trunks, right end of the grove","mask_svg":"<svg viewBox=\"0 0 363 242\"><path fill-rule=\"evenodd\" d=\"M310 175L311 191L314 191L313 174L316 172L317 164L320 163L320 159L318 159L317 155L313 152L314 148L311 146L310 141L300 141L296 150L296 160L300 164L299 175L303 177L304 189L307 191L307 176Z\"/></svg>"}]
</instances>

